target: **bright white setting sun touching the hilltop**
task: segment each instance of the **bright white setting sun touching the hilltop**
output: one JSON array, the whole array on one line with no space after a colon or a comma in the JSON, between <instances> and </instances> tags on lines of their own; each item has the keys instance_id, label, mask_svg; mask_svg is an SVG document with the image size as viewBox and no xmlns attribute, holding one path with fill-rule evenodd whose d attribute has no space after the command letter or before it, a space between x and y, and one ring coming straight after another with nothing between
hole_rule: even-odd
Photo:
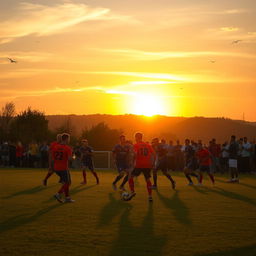
<instances>
[{"instance_id":1,"label":"bright white setting sun touching the hilltop","mask_svg":"<svg viewBox=\"0 0 256 256\"><path fill-rule=\"evenodd\" d=\"M131 108L133 114L144 116L166 115L167 112L163 100L151 94L136 96Z\"/></svg>"}]
</instances>

